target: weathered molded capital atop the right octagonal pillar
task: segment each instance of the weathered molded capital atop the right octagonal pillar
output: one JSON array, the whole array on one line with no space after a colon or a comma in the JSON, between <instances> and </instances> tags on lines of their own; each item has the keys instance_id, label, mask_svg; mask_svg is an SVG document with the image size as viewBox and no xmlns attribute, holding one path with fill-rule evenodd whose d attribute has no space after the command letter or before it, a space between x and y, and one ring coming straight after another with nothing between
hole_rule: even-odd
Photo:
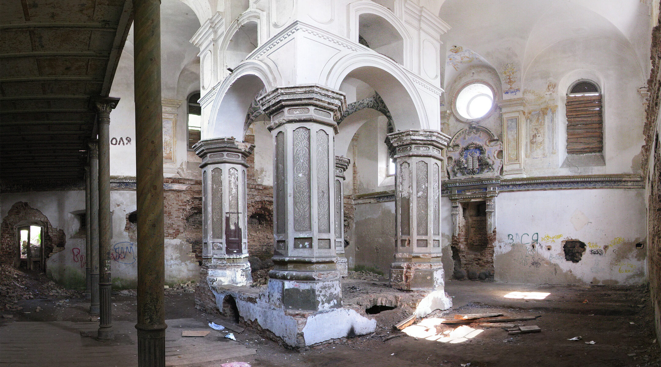
<instances>
[{"instance_id":1,"label":"weathered molded capital atop the right octagonal pillar","mask_svg":"<svg viewBox=\"0 0 661 367\"><path fill-rule=\"evenodd\" d=\"M429 156L442 160L441 150L447 147L450 137L436 130L404 130L389 133L385 143L393 158Z\"/></svg>"}]
</instances>

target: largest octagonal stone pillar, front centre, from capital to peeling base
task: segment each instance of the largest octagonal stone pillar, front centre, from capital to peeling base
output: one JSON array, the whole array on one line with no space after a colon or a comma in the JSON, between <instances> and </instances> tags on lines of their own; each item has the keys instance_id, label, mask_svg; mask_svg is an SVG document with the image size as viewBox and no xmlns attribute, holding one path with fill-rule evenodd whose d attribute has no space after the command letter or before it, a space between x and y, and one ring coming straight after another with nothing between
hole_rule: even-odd
<instances>
[{"instance_id":1,"label":"largest octagonal stone pillar, front centre, from capital to peeling base","mask_svg":"<svg viewBox=\"0 0 661 367\"><path fill-rule=\"evenodd\" d=\"M334 135L346 99L323 86L301 85L276 88L258 102L271 117L275 147L269 302L286 310L340 308Z\"/></svg>"}]
</instances>

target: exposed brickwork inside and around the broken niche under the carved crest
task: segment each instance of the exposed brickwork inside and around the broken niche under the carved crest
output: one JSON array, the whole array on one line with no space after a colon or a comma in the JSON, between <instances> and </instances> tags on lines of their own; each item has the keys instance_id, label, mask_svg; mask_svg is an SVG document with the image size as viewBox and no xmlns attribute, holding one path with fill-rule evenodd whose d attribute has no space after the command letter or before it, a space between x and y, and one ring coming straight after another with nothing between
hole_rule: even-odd
<instances>
[{"instance_id":1,"label":"exposed brickwork inside and around the broken niche under the carved crest","mask_svg":"<svg viewBox=\"0 0 661 367\"><path fill-rule=\"evenodd\" d=\"M466 271L493 271L496 233L486 233L486 215L478 206L484 202L462 203L459 210L459 232L452 236L451 246ZM459 265L455 261L455 267Z\"/></svg>"}]
</instances>

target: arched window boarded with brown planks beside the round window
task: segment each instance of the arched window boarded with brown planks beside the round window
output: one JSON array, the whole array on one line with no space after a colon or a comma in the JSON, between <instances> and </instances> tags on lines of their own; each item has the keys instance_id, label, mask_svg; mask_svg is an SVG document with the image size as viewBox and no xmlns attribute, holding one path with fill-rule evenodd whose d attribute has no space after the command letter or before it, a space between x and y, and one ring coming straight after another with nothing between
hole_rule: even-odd
<instances>
[{"instance_id":1,"label":"arched window boarded with brown planks beside the round window","mask_svg":"<svg viewBox=\"0 0 661 367\"><path fill-rule=\"evenodd\" d=\"M567 94L567 153L603 150L602 94L597 86L580 81Z\"/></svg>"}]
</instances>

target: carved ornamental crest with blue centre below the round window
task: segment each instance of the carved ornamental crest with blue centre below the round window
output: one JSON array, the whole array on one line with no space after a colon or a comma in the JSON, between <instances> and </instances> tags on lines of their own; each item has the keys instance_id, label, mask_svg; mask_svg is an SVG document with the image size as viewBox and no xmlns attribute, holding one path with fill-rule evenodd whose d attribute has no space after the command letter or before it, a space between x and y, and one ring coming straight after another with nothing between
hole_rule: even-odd
<instances>
[{"instance_id":1,"label":"carved ornamental crest with blue centre below the round window","mask_svg":"<svg viewBox=\"0 0 661 367\"><path fill-rule=\"evenodd\" d=\"M501 167L502 142L477 123L459 130L447 147L450 178L498 176Z\"/></svg>"}]
</instances>

